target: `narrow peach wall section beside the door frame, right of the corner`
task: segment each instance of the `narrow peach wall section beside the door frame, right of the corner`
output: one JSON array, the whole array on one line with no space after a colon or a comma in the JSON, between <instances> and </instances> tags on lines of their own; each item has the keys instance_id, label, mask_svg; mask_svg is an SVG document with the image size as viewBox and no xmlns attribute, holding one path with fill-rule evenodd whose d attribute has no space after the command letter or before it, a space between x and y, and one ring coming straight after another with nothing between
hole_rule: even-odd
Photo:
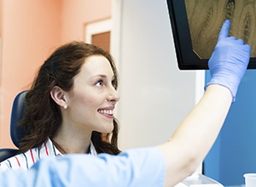
<instances>
[{"instance_id":1,"label":"narrow peach wall section beside the door frame, right of the corner","mask_svg":"<svg viewBox=\"0 0 256 187\"><path fill-rule=\"evenodd\" d=\"M112 0L64 0L62 6L63 42L84 41L84 25L111 17Z\"/></svg>"}]
</instances>

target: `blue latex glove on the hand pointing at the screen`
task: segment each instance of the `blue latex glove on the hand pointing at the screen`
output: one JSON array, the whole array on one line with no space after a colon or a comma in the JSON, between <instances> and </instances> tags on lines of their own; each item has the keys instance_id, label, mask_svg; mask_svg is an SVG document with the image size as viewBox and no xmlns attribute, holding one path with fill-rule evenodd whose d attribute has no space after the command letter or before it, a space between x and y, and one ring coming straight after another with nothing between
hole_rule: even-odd
<instances>
[{"instance_id":1,"label":"blue latex glove on the hand pointing at the screen","mask_svg":"<svg viewBox=\"0 0 256 187\"><path fill-rule=\"evenodd\" d=\"M241 39L229 37L230 20L225 20L218 34L218 42L208 61L212 79L207 83L230 89L233 101L250 59L251 47ZM206 86L206 87L207 87Z\"/></svg>"}]
</instances>

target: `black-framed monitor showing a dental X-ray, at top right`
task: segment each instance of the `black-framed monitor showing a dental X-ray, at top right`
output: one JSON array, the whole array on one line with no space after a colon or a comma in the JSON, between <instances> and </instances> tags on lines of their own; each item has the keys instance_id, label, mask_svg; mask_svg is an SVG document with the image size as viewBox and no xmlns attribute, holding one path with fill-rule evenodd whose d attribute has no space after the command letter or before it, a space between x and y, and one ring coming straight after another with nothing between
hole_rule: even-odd
<instances>
[{"instance_id":1,"label":"black-framed monitor showing a dental X-ray, at top right","mask_svg":"<svg viewBox=\"0 0 256 187\"><path fill-rule=\"evenodd\" d=\"M180 70L207 70L224 20L230 36L252 47L248 69L256 69L256 1L167 0Z\"/></svg>"}]
</instances>

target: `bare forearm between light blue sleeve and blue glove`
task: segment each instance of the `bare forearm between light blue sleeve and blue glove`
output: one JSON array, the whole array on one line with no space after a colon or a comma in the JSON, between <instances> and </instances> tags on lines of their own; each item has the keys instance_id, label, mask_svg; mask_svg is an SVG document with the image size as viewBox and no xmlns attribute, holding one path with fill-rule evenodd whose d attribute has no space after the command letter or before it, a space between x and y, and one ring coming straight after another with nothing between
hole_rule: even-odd
<instances>
[{"instance_id":1,"label":"bare forearm between light blue sleeve and blue glove","mask_svg":"<svg viewBox=\"0 0 256 187\"><path fill-rule=\"evenodd\" d=\"M166 186L173 186L195 172L218 136L231 99L229 89L209 86L170 141L160 145L166 157Z\"/></svg>"}]
</instances>

